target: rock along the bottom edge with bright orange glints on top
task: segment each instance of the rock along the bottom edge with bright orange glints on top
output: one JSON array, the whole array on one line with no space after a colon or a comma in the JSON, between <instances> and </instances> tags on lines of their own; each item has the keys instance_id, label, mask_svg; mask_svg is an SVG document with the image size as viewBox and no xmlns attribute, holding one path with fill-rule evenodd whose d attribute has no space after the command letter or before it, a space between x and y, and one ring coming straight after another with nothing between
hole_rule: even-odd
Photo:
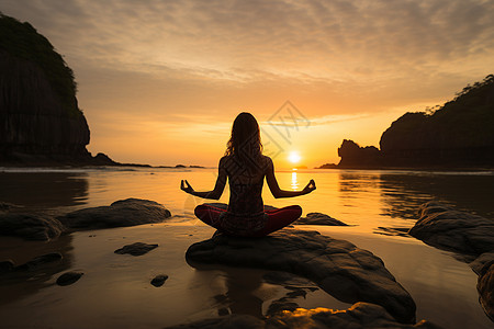
<instances>
[{"instance_id":1,"label":"rock along the bottom edge with bright orange glints on top","mask_svg":"<svg viewBox=\"0 0 494 329\"><path fill-rule=\"evenodd\" d=\"M416 325L404 325L396 322L384 308L369 303L357 303L346 310L328 308L296 308L284 310L267 319L258 319L249 315L229 315L214 319L200 320L171 328L201 328L201 329L236 329L236 328L285 328L285 329L321 329L321 328L423 328L439 329L440 327L422 320Z\"/></svg>"}]
</instances>

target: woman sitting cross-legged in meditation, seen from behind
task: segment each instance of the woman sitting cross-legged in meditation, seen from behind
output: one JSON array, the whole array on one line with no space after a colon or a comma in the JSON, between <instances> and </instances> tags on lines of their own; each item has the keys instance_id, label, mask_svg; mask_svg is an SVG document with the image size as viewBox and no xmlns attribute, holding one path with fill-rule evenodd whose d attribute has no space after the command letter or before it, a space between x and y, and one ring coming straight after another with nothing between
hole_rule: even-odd
<instances>
[{"instance_id":1,"label":"woman sitting cross-legged in meditation, seen from behind","mask_svg":"<svg viewBox=\"0 0 494 329\"><path fill-rule=\"evenodd\" d=\"M273 232L302 215L299 205L265 211L261 192L266 177L274 197L293 197L316 189L314 180L302 191L284 191L278 185L271 158L262 155L259 124L243 112L235 118L225 156L220 160L218 175L213 191L197 192L189 182L181 181L181 190L195 196L218 200L229 182L227 209L202 204L195 207L195 216L217 230L243 237L262 237Z\"/></svg>"}]
</instances>

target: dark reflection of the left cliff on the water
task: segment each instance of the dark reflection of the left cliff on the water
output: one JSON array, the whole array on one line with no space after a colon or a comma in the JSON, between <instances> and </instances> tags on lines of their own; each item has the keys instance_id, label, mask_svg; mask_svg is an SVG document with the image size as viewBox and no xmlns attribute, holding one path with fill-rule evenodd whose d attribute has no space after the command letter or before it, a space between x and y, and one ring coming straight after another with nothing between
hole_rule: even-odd
<instances>
[{"instance_id":1,"label":"dark reflection of the left cliff on the water","mask_svg":"<svg viewBox=\"0 0 494 329\"><path fill-rule=\"evenodd\" d=\"M2 172L0 201L27 207L82 204L88 197L86 173Z\"/></svg>"}]
</instances>

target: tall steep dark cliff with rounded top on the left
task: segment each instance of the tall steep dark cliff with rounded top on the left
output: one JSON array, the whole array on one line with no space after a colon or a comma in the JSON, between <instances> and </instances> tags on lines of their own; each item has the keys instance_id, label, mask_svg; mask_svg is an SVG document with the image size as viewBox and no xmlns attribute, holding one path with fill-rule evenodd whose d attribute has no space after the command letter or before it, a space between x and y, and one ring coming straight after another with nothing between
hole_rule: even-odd
<instances>
[{"instance_id":1,"label":"tall steep dark cliff with rounded top on the left","mask_svg":"<svg viewBox=\"0 0 494 329\"><path fill-rule=\"evenodd\" d=\"M71 69L29 23L0 13L0 163L85 162Z\"/></svg>"}]
</instances>

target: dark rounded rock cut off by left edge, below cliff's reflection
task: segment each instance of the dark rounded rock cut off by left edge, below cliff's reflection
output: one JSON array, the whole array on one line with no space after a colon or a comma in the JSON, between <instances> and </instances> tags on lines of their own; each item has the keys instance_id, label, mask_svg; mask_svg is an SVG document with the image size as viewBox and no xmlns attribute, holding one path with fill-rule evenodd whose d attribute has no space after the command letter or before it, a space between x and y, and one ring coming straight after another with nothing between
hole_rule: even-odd
<instances>
[{"instance_id":1,"label":"dark rounded rock cut off by left edge, below cliff's reflection","mask_svg":"<svg viewBox=\"0 0 494 329\"><path fill-rule=\"evenodd\" d=\"M27 240L57 238L64 226L57 219L44 214L0 213L0 235Z\"/></svg>"}]
</instances>

